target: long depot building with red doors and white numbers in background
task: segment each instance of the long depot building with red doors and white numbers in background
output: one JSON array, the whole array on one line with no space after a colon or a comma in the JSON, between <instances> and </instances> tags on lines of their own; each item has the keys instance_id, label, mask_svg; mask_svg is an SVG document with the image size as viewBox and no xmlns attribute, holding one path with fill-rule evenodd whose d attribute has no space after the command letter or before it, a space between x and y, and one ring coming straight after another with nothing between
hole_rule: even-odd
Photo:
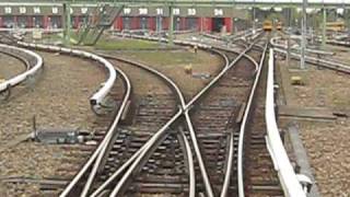
<instances>
[{"instance_id":1,"label":"long depot building with red doors and white numbers in background","mask_svg":"<svg viewBox=\"0 0 350 197\"><path fill-rule=\"evenodd\" d=\"M97 7L94 4L72 4L70 7L71 26L78 28L96 18ZM119 9L108 7L107 9ZM162 31L170 26L170 12L174 15L175 31L213 31L223 28L231 32L235 23L247 15L244 10L232 8L194 8L182 7L130 7L124 8L115 20L114 30L151 30ZM65 23L61 3L7 3L0 4L1 28L61 28Z\"/></svg>"}]
</instances>

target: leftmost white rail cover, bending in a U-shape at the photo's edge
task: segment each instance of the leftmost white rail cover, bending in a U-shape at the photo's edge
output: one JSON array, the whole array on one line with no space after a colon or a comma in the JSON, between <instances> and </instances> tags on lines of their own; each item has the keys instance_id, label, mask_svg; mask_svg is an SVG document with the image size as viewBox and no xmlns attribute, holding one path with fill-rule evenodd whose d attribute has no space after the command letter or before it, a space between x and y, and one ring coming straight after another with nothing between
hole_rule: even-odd
<instances>
[{"instance_id":1,"label":"leftmost white rail cover, bending in a U-shape at the photo's edge","mask_svg":"<svg viewBox=\"0 0 350 197\"><path fill-rule=\"evenodd\" d=\"M19 50L19 51L27 54L28 56L32 56L36 59L36 63L33 67L31 67L28 70L0 83L0 92L5 91L7 89L9 89L11 86L20 84L25 79L27 79L31 76L34 76L40 68L43 68L43 65L44 65L43 58L39 55L37 55L31 50L27 50L24 48L19 48L15 46L4 45L4 44L0 44L0 47L11 49L11 50Z\"/></svg>"}]
</instances>

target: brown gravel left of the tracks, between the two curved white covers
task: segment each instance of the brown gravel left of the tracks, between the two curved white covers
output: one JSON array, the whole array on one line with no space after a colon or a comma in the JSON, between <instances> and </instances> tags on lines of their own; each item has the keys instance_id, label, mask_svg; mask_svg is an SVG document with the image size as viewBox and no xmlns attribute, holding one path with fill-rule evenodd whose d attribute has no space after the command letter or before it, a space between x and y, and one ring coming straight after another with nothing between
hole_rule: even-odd
<instances>
[{"instance_id":1,"label":"brown gravel left of the tracks, between the two curved white covers","mask_svg":"<svg viewBox=\"0 0 350 197\"><path fill-rule=\"evenodd\" d=\"M62 159L67 152L60 146L22 142L3 149L7 142L33 131L33 116L36 116L37 126L42 128L81 127L89 130L95 119L90 109L89 97L105 79L102 69L96 63L80 58L39 54L45 59L45 70L37 82L27 90L14 89L13 97L0 107L0 177L54 176L55 171L63 164ZM31 196L28 194L36 193L36 189L33 186L15 190ZM8 190L4 185L2 189L0 186L0 194L1 190L5 196L20 195Z\"/></svg>"}]
</instances>

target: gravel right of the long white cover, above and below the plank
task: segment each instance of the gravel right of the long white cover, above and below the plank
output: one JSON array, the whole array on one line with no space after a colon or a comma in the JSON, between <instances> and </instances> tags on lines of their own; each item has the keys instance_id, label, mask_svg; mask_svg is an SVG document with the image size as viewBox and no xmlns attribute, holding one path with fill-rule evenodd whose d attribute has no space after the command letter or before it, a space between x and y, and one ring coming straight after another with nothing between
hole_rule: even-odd
<instances>
[{"instance_id":1,"label":"gravel right of the long white cover, above and below the plank","mask_svg":"<svg viewBox=\"0 0 350 197\"><path fill-rule=\"evenodd\" d=\"M326 69L318 70L314 66L310 66L308 71L289 71L282 61L278 65L281 68L288 105L329 109L349 108L350 76ZM291 85L292 76L301 76L305 85ZM348 196L350 194L349 119L326 123L300 120L299 125L322 196Z\"/></svg>"}]
</instances>

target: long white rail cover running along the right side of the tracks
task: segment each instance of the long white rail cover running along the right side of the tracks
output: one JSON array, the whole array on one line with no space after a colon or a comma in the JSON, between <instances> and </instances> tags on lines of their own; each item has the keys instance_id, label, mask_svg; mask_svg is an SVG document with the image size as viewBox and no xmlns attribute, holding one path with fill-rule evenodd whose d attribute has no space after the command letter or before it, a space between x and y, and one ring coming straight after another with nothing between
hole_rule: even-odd
<instances>
[{"instance_id":1,"label":"long white rail cover running along the right side of the tracks","mask_svg":"<svg viewBox=\"0 0 350 197\"><path fill-rule=\"evenodd\" d=\"M268 62L268 80L266 90L265 119L267 127L266 144L271 155L275 170L278 172L284 195L289 197L306 197L293 166L288 158L281 140L275 114L273 49L270 49Z\"/></svg>"}]
</instances>

